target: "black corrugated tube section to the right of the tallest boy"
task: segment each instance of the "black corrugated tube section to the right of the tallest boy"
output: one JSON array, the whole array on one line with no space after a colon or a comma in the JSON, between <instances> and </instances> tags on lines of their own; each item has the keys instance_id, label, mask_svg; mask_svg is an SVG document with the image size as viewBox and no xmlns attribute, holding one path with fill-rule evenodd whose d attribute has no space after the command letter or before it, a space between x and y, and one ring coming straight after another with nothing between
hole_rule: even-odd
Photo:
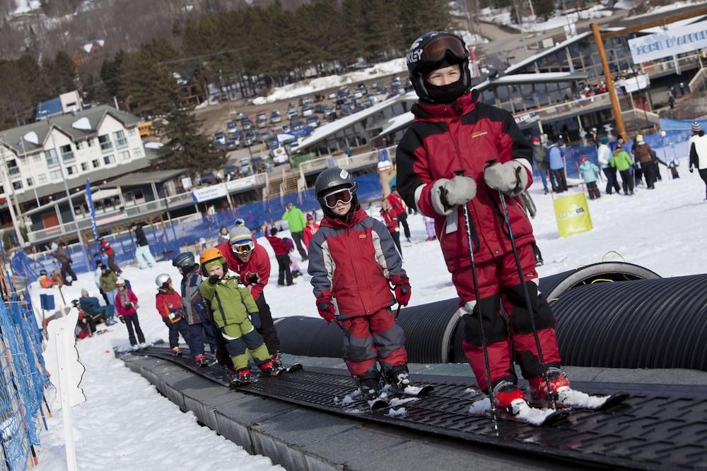
<instances>
[{"instance_id":1,"label":"black corrugated tube section to the right of the tallest boy","mask_svg":"<svg viewBox=\"0 0 707 471\"><path fill-rule=\"evenodd\" d=\"M707 275L600 283L554 304L564 364L707 371Z\"/></svg>"}]
</instances>

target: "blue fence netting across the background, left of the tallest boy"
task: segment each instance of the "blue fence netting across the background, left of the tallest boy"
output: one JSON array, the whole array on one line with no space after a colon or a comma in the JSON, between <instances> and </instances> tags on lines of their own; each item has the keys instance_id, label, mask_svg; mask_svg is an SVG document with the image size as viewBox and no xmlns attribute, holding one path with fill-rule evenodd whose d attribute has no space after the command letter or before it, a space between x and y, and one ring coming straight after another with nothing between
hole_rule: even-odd
<instances>
[{"instance_id":1,"label":"blue fence netting across the background, left of the tallest boy","mask_svg":"<svg viewBox=\"0 0 707 471\"><path fill-rule=\"evenodd\" d=\"M364 174L356 177L359 201L366 201L382 197L382 186L378 174ZM293 203L303 211L312 211L320 208L314 195L314 189L308 189L301 193L293 193L280 197L269 198L267 201L251 203L218 212L211 216L202 217L195 220L187 220L170 225L147 225L143 229L150 245L151 252L155 258L168 260L173 258L181 247L192 244L209 244L216 239L218 229L226 226L230 229L233 222L242 218L245 225L255 232L257 237L262 236L262 227L267 223L278 222L285 212L285 205ZM284 226L286 227L286 225ZM115 250L115 262L122 266L133 263L135 260L134 236L130 233L109 234L105 239ZM98 254L98 244L89 244L87 253L90 259L90 268L86 266L86 261L81 253L78 244L67 247L67 252L73 260L71 268L75 273L86 273L95 270L95 261L101 260L107 263L104 254ZM12 268L18 275L26 276L31 281L37 280L40 270L47 270L49 275L52 271L59 270L59 263L56 259L45 252L36 259L18 251L12 258Z\"/></svg>"}]
</instances>

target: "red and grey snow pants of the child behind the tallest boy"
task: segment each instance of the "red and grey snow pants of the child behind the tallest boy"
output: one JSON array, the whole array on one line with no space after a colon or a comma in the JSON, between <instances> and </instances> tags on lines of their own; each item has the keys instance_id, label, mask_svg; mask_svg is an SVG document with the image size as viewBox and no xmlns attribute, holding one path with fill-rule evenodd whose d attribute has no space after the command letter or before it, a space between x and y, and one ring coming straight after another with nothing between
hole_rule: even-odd
<instances>
[{"instance_id":1,"label":"red and grey snow pants of the child behind the tallest boy","mask_svg":"<svg viewBox=\"0 0 707 471\"><path fill-rule=\"evenodd\" d=\"M395 323L389 308L380 309L367 316L353 316L341 321L346 331L344 338L344 361L352 376L361 376L370 371L387 374L392 366L407 364L405 333Z\"/></svg>"}]
</instances>

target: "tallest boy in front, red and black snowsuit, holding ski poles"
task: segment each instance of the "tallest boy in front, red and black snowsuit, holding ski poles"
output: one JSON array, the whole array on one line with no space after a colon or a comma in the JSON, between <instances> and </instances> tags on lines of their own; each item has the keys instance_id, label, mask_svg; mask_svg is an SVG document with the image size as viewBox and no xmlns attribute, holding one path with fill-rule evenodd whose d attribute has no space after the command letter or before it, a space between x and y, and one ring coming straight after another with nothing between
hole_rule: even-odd
<instances>
[{"instance_id":1,"label":"tallest boy in front, red and black snowsuit, holding ski poles","mask_svg":"<svg viewBox=\"0 0 707 471\"><path fill-rule=\"evenodd\" d=\"M518 388L513 348L532 396L547 398L557 393L560 402L566 400L571 389L561 370L555 318L538 290L532 225L518 201L520 193L532 183L532 147L512 114L480 102L478 91L470 90L469 52L457 35L428 32L419 37L407 54L407 66L419 103L412 107L415 121L397 148L398 188L409 205L435 219L447 268L460 298L464 354L477 383L481 390L493 390L500 409L515 414L527 405ZM551 151L555 165L552 155L550 165L558 171L562 179L558 186L564 191L563 165L557 164L561 151L557 144ZM515 265L508 232L499 221L503 214L499 191L509 201L508 216L522 273ZM467 243L462 205L472 215L474 232L469 235L473 248ZM475 273L470 261L472 249ZM480 299L474 290L474 276L480 281ZM521 283L530 295L530 312ZM502 302L508 312L508 326L501 316ZM530 316L537 326L547 370L539 362ZM484 365L479 317L484 325L489 371Z\"/></svg>"}]
</instances>

